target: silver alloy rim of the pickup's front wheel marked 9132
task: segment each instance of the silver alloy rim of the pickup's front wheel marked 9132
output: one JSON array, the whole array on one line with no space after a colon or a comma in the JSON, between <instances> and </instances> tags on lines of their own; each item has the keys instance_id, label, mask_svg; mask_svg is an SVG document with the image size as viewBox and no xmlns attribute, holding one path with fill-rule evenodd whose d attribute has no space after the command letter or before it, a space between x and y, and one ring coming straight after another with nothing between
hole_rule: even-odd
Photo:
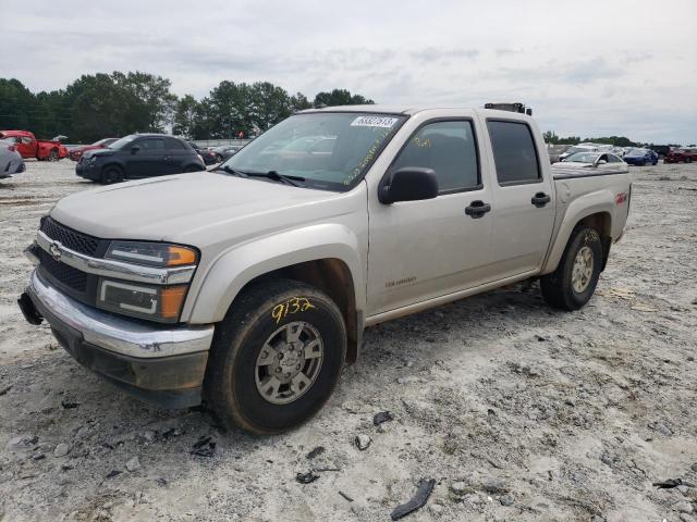
<instances>
[{"instance_id":1,"label":"silver alloy rim of the pickup's front wheel marked 9132","mask_svg":"<svg viewBox=\"0 0 697 522\"><path fill-rule=\"evenodd\" d=\"M254 369L257 391L272 405L288 405L305 395L321 370L325 345L319 331L304 321L276 330L266 340Z\"/></svg>"}]
</instances>

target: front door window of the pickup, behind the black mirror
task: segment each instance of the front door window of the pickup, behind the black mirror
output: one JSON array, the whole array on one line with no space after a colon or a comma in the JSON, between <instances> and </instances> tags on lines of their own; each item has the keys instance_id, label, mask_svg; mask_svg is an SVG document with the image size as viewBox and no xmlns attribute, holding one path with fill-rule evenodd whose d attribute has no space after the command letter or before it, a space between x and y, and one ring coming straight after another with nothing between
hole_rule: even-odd
<instances>
[{"instance_id":1,"label":"front door window of the pickup, behind the black mirror","mask_svg":"<svg viewBox=\"0 0 697 522\"><path fill-rule=\"evenodd\" d=\"M440 194L479 186L477 144L472 122L436 122L424 125L409 138L392 170L409 166L432 169Z\"/></svg>"}]
</instances>

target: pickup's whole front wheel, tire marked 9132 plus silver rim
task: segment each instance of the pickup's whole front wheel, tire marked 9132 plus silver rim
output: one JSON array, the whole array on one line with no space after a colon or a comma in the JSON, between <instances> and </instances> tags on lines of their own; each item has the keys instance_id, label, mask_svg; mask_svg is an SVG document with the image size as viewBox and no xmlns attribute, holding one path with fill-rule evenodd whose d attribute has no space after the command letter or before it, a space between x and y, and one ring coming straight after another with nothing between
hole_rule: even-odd
<instances>
[{"instance_id":1,"label":"pickup's whole front wheel, tire marked 9132 plus silver rim","mask_svg":"<svg viewBox=\"0 0 697 522\"><path fill-rule=\"evenodd\" d=\"M282 433L319 411L345 355L346 327L329 296L296 281L260 283L216 330L206 399L228 427Z\"/></svg>"}]
</instances>

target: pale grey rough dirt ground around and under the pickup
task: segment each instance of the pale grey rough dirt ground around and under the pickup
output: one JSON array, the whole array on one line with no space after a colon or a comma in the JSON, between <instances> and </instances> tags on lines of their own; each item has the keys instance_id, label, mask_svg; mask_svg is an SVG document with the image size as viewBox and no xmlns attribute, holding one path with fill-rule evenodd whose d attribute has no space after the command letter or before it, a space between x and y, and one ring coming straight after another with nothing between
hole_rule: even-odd
<instances>
[{"instance_id":1,"label":"pale grey rough dirt ground around and under the pickup","mask_svg":"<svg viewBox=\"0 0 697 522\"><path fill-rule=\"evenodd\" d=\"M421 477L405 520L697 520L697 164L632 172L584 310L517 285L370 328L314 420L255 438L129 398L24 322L22 250L91 186L28 163L0 181L0 521L386 521ZM205 436L213 455L192 455ZM651 485L678 477L693 487Z\"/></svg>"}]
</instances>

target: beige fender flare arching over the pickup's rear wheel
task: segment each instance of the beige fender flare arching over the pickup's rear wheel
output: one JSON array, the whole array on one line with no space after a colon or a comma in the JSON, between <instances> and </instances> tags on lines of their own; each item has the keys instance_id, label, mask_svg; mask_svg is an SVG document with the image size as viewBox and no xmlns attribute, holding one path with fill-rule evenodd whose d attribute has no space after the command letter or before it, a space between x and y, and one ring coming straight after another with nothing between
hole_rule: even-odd
<instances>
[{"instance_id":1,"label":"beige fender flare arching over the pickup's rear wheel","mask_svg":"<svg viewBox=\"0 0 697 522\"><path fill-rule=\"evenodd\" d=\"M541 273L549 274L557 270L571 234L579 221L598 213L607 213L612 220L613 209L614 195L609 189L590 192L573 200L564 211Z\"/></svg>"}]
</instances>

